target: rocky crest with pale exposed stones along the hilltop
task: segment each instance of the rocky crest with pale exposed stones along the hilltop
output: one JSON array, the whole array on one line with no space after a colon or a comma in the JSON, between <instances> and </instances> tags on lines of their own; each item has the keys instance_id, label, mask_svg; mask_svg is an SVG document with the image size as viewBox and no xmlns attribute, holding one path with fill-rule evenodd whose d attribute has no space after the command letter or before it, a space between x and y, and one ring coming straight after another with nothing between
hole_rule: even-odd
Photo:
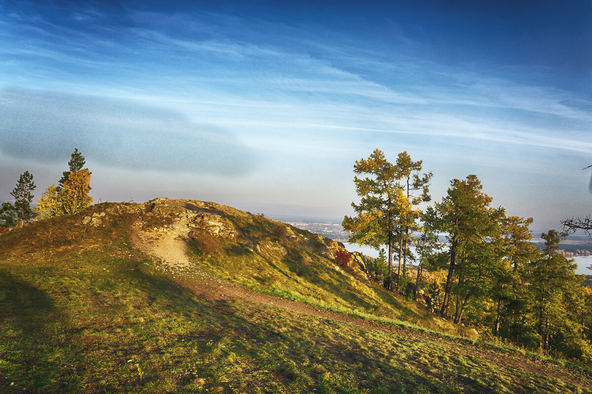
<instances>
[{"instance_id":1,"label":"rocky crest with pale exposed stones along the hilltop","mask_svg":"<svg viewBox=\"0 0 592 394\"><path fill-rule=\"evenodd\" d=\"M336 252L345 250L343 243L327 237L297 229L263 215L254 215L207 201L155 198L143 204L96 204L87 212L87 216L82 219L82 224L86 226L107 226L116 217L131 215L137 217L134 226L141 230L139 236L144 239L159 238L171 233L185 238L187 242L213 237L219 245L242 248L269 259L282 259L290 253L299 253L304 261L326 259L339 268L335 263ZM350 269L361 278L367 279L366 257L353 253L352 261Z\"/></svg>"}]
</instances>

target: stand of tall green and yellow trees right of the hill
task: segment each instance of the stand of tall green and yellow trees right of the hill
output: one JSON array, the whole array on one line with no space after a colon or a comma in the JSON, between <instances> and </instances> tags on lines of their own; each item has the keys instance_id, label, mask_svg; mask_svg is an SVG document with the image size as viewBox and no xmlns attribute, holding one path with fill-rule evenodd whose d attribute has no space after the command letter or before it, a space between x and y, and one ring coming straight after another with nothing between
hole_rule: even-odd
<instances>
[{"instance_id":1,"label":"stand of tall green and yellow trees right of the hill","mask_svg":"<svg viewBox=\"0 0 592 394\"><path fill-rule=\"evenodd\" d=\"M343 227L350 242L381 250L375 278L456 324L592 364L592 290L574 261L556 253L567 233L543 233L539 250L531 242L532 218L491 206L476 175L452 180L441 201L419 209L430 201L432 177L421 171L422 161L407 152L390 164L378 149L354 165L361 203L352 203L356 216L346 216Z\"/></svg>"}]
</instances>

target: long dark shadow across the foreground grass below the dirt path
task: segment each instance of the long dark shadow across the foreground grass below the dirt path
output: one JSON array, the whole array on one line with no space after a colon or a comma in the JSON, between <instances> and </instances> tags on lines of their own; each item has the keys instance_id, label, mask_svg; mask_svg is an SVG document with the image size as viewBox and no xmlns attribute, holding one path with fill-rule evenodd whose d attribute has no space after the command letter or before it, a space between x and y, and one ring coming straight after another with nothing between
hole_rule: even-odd
<instances>
[{"instance_id":1,"label":"long dark shadow across the foreground grass below the dirt path","mask_svg":"<svg viewBox=\"0 0 592 394\"><path fill-rule=\"evenodd\" d=\"M177 313L187 315L198 310L208 312L204 318L210 321L210 327L217 329L187 333L179 340L208 341L210 348L204 345L200 350L202 356L219 361L212 362L207 373L223 377L218 385L225 393L249 392L243 390L249 385L264 392L275 392L279 386L279 391L284 392L288 386L295 385L298 388L301 385L298 382L299 376L310 377L310 384L303 384L301 389L313 392L334 390L353 393L359 392L359 389L372 393L453 392L447 390L440 379L453 380L456 372L443 374L439 371L436 376L422 370L415 372L402 368L392 362L392 356L398 350L388 351L392 353L391 357L377 356L372 349L352 344L352 341L344 342L340 337L324 335L318 330L318 321L313 317L301 317L296 312L286 312L280 316L273 307L250 304L246 300L209 301L197 297L189 288L168 282L166 278L156 278L147 273L134 275L141 278L147 289L164 295ZM311 340L314 341L314 346L310 346ZM217 347L217 343L221 347ZM208 349L218 349L220 353L210 355ZM236 360L237 355L258 373L253 376L229 374L224 360L226 357ZM318 358L325 362L322 363L323 367L316 364L314 368L310 364L294 363L294 360L303 357ZM377 373L369 374L372 371ZM460 383L462 385L467 382ZM474 382L466 386L472 388ZM294 386L291 389L294 390ZM481 389L478 392L492 391Z\"/></svg>"}]
</instances>

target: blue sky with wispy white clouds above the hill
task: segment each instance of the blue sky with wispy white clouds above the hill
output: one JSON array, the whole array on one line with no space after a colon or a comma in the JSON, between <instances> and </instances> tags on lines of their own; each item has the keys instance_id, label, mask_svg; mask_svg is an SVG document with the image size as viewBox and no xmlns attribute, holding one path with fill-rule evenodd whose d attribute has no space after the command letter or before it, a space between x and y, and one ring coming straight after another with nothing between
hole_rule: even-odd
<instances>
[{"instance_id":1,"label":"blue sky with wispy white clouds above the hill","mask_svg":"<svg viewBox=\"0 0 592 394\"><path fill-rule=\"evenodd\" d=\"M378 148L559 229L592 213L590 48L591 1L0 0L0 201L77 148L95 203L341 222Z\"/></svg>"}]
</instances>

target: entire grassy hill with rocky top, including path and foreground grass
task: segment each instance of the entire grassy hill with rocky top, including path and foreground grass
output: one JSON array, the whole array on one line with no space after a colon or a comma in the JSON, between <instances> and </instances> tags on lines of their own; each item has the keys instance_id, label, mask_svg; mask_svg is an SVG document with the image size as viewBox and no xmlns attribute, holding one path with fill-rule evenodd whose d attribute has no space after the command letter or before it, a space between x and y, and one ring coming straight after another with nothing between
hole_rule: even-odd
<instances>
[{"instance_id":1,"label":"entire grassy hill with rocky top, including path and foreground grass","mask_svg":"<svg viewBox=\"0 0 592 394\"><path fill-rule=\"evenodd\" d=\"M337 248L165 199L2 235L0 392L592 392L562 363L406 328L455 331L337 266Z\"/></svg>"}]
</instances>

